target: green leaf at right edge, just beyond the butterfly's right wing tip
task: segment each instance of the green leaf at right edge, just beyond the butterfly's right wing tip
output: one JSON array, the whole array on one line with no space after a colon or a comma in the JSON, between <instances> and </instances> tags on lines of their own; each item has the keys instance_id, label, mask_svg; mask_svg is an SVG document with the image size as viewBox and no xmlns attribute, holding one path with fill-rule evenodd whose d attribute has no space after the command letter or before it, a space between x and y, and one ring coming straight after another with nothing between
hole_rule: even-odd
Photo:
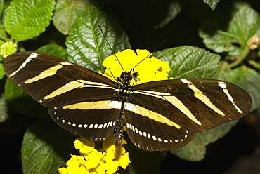
<instances>
[{"instance_id":1,"label":"green leaf at right edge, just beyond the butterfly's right wing tip","mask_svg":"<svg viewBox=\"0 0 260 174\"><path fill-rule=\"evenodd\" d=\"M229 76L228 81L234 83L241 88L245 89L252 98L251 111L260 107L260 74L254 69L246 66L241 66L233 69Z\"/></svg>"}]
</instances>

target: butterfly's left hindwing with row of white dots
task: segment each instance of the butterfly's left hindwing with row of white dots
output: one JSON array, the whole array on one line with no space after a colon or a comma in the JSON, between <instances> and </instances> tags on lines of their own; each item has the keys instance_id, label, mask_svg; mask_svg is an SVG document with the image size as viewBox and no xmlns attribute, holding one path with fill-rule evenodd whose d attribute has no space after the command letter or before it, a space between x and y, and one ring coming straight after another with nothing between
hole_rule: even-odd
<instances>
[{"instance_id":1,"label":"butterfly's left hindwing with row of white dots","mask_svg":"<svg viewBox=\"0 0 260 174\"><path fill-rule=\"evenodd\" d=\"M98 106L93 109L90 107L93 105L91 102L80 103L81 106L77 106L79 103L76 101L69 102L65 105L49 108L48 112L59 126L75 135L94 141L108 138L115 128L120 110L99 109ZM75 107L72 107L73 105ZM105 105L110 105L110 102L105 101L102 106Z\"/></svg>"}]
</instances>

